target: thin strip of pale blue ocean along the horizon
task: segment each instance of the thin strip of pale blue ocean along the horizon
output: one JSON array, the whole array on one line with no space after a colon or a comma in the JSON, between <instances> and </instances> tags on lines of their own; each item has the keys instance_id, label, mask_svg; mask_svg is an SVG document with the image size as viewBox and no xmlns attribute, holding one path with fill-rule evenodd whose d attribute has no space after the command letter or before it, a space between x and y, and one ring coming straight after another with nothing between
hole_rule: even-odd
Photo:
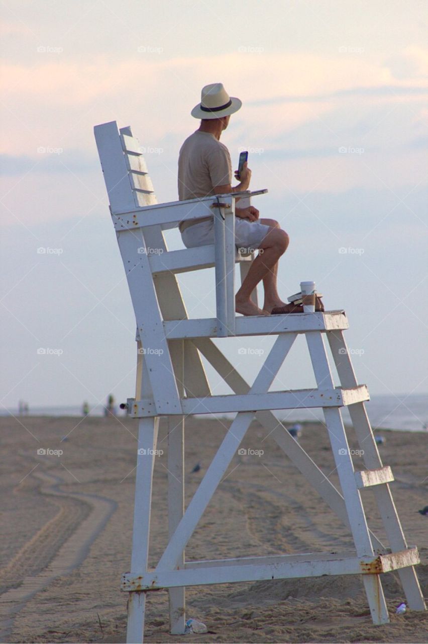
<instances>
[{"instance_id":1,"label":"thin strip of pale blue ocean along the horizon","mask_svg":"<svg viewBox=\"0 0 428 644\"><path fill-rule=\"evenodd\" d=\"M366 410L373 429L424 431L428 430L428 395L402 394L402 395L379 395L373 396L366 403ZM0 412L1 415L17 415L18 410L10 409ZM348 410L342 408L343 420L350 424ZM29 415L37 416L82 416L80 406L58 406L58 407L33 407ZM98 405L91 408L91 416L103 416L104 408ZM125 412L118 410L119 416ZM299 409L278 412L281 420L288 422L296 421L323 421L321 409ZM213 414L207 414L213 417ZM233 418L234 414L221 414L221 417Z\"/></svg>"}]
</instances>

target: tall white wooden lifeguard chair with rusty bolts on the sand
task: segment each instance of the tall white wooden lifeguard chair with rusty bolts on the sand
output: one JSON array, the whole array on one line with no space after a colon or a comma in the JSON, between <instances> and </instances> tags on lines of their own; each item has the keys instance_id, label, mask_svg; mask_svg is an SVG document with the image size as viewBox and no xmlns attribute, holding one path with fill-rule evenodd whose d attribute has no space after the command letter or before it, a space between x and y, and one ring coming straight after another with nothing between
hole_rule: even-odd
<instances>
[{"instance_id":1,"label":"tall white wooden lifeguard chair with rusty bolts on the sand","mask_svg":"<svg viewBox=\"0 0 428 644\"><path fill-rule=\"evenodd\" d=\"M397 570L409 608L425 610L414 565L418 550L408 547L389 483L393 474L383 466L364 407L368 389L359 385L344 340L348 320L343 310L285 316L235 316L235 261L245 275L252 256L235 248L235 198L256 193L233 193L168 204L157 204L141 147L130 128L116 121L94 128L110 211L118 238L137 324L136 394L127 413L139 419L138 456L132 558L123 575L129 592L127 642L142 642L147 592L168 589L170 631L184 633L185 587L215 583L310 576L362 575L373 623L389 621L380 575ZM211 214L215 243L169 251L163 231L181 220ZM213 319L188 319L175 274L215 267L216 311ZM296 337L306 338L316 377L316 389L269 392ZM222 354L212 337L278 336L249 385ZM334 385L324 338L332 352L340 386ZM201 354L235 392L212 395ZM366 470L355 471L341 417L348 406L353 428L364 450ZM323 408L341 492L325 477L299 443L283 430L272 410ZM184 416L236 412L192 500L184 510ZM169 542L155 569L148 569L152 475L159 417L168 419ZM337 554L305 553L187 561L184 549L229 467L254 417L265 427L317 493L341 518L353 537L355 550ZM173 431L174 429L174 431ZM319 482L323 481L320 486ZM361 493L375 494L389 546L368 527Z\"/></svg>"}]
</instances>

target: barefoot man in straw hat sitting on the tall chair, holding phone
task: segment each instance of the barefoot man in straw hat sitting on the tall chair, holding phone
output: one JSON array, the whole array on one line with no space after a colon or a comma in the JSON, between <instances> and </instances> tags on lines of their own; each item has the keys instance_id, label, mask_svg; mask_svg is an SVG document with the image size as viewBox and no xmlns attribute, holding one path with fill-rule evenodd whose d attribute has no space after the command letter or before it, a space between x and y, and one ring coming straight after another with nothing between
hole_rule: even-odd
<instances>
[{"instance_id":1,"label":"barefoot man in straw hat sitting on the tall chair, holding phone","mask_svg":"<svg viewBox=\"0 0 428 644\"><path fill-rule=\"evenodd\" d=\"M201 118L199 129L186 138L181 146L178 162L179 200L195 199L212 194L236 193L247 190L251 170L245 162L239 174L238 185L232 187L232 164L229 151L220 143L220 136L233 113L242 106L240 99L229 97L222 83L202 88L201 102L192 109L192 116ZM259 249L247 276L236 293L236 312L244 316L303 313L303 306L286 304L276 289L278 260L287 250L289 236L274 219L260 219L252 205L235 209L236 246ZM179 230L187 248L214 243L213 216L180 222ZM251 293L263 280L263 309L251 301ZM324 310L316 298L316 310Z\"/></svg>"}]
</instances>

